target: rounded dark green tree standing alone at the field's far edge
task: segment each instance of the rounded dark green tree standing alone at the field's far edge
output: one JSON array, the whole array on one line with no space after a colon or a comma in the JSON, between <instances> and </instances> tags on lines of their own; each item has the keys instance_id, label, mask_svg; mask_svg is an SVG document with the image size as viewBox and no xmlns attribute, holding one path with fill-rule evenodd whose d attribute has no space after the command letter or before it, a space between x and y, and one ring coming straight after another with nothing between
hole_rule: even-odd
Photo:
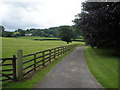
<instances>
[{"instance_id":1,"label":"rounded dark green tree standing alone at the field's far edge","mask_svg":"<svg viewBox=\"0 0 120 90\"><path fill-rule=\"evenodd\" d=\"M69 42L72 42L72 39L74 37L72 28L70 26L60 26L59 27L59 37L63 41L66 41L67 44L69 44Z\"/></svg>"}]
</instances>

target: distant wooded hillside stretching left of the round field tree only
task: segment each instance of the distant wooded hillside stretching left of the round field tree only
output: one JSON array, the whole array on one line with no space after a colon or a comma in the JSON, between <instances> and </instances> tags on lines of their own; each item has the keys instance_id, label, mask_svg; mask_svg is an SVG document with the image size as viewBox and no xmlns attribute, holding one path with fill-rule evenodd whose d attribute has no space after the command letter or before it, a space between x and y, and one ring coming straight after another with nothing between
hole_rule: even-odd
<instances>
[{"instance_id":1,"label":"distant wooded hillside stretching left of the round field tree only","mask_svg":"<svg viewBox=\"0 0 120 90\"><path fill-rule=\"evenodd\" d=\"M0 26L3 27L3 26ZM40 36L40 37L57 37L57 27L49 28L49 29L17 29L13 32L5 31L3 27L1 30L2 37L18 37L18 36L25 36L26 34L31 34L32 36Z\"/></svg>"}]
</instances>

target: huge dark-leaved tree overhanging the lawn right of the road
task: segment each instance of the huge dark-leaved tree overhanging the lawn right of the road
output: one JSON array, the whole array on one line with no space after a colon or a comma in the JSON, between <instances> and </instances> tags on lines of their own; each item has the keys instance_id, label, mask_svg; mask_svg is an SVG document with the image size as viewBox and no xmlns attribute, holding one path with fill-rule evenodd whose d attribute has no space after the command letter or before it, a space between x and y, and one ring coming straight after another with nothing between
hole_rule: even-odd
<instances>
[{"instance_id":1,"label":"huge dark-leaved tree overhanging the lawn right of the road","mask_svg":"<svg viewBox=\"0 0 120 90\"><path fill-rule=\"evenodd\" d=\"M84 2L74 20L91 47L116 47L120 36L119 2Z\"/></svg>"}]
</instances>

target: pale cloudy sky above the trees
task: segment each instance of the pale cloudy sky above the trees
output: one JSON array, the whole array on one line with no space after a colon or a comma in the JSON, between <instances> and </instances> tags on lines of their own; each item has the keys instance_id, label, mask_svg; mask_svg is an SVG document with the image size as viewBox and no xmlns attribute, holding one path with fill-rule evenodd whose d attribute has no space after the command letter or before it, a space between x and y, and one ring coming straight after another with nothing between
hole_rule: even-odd
<instances>
[{"instance_id":1,"label":"pale cloudy sky above the trees","mask_svg":"<svg viewBox=\"0 0 120 90\"><path fill-rule=\"evenodd\" d=\"M6 31L73 25L85 0L0 0L0 25Z\"/></svg>"}]
</instances>

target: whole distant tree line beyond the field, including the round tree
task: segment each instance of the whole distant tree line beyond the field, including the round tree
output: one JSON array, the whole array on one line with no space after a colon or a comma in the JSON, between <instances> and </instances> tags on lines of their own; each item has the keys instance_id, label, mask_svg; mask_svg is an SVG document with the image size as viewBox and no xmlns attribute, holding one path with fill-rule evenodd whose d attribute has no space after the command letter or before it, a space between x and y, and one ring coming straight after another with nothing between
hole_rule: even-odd
<instances>
[{"instance_id":1,"label":"whole distant tree line beyond the field, including the round tree","mask_svg":"<svg viewBox=\"0 0 120 90\"><path fill-rule=\"evenodd\" d=\"M2 37L20 37L30 34L32 36L61 38L68 44L69 42L72 42L72 40L80 38L80 34L77 32L76 27L69 25L50 27L48 29L36 29L36 28L26 30L18 29L15 30L14 32L5 31L5 28L3 26L0 27L1 27L0 36Z\"/></svg>"}]
</instances>

